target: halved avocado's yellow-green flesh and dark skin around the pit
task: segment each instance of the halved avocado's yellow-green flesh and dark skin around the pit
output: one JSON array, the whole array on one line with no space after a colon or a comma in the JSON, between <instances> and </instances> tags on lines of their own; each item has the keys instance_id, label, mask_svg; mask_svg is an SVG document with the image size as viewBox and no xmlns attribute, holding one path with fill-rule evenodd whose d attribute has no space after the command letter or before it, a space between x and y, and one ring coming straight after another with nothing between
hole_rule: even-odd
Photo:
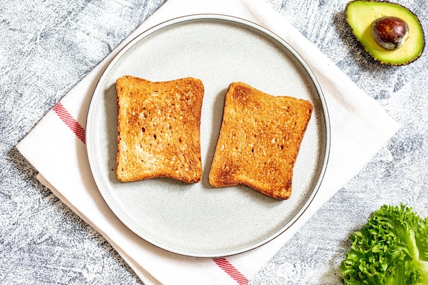
<instances>
[{"instance_id":1,"label":"halved avocado's yellow-green flesh and dark skin around the pit","mask_svg":"<svg viewBox=\"0 0 428 285\"><path fill-rule=\"evenodd\" d=\"M403 66L422 55L425 48L422 25L418 17L402 5L389 1L353 0L347 3L345 15L354 36L382 64ZM401 18L409 27L408 36L398 49L384 49L373 38L371 25L384 16Z\"/></svg>"}]
</instances>

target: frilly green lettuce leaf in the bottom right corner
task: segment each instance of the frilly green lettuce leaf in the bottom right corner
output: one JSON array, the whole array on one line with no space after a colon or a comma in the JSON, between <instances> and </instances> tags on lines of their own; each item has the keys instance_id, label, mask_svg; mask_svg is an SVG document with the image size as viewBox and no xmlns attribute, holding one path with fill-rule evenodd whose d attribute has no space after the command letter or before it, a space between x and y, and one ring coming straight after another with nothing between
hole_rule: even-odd
<instances>
[{"instance_id":1,"label":"frilly green lettuce leaf in the bottom right corner","mask_svg":"<svg viewBox=\"0 0 428 285\"><path fill-rule=\"evenodd\" d=\"M349 239L343 284L428 285L428 218L412 208L384 205Z\"/></svg>"}]
</instances>

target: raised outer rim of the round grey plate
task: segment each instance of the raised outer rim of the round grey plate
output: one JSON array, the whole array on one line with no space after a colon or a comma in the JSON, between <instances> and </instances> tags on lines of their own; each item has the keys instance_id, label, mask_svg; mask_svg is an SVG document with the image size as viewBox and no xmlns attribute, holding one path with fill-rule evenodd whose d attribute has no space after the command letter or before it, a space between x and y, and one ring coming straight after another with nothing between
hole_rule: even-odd
<instances>
[{"instance_id":1,"label":"raised outer rim of the round grey plate","mask_svg":"<svg viewBox=\"0 0 428 285\"><path fill-rule=\"evenodd\" d=\"M91 113L94 111L94 97L95 95L100 92L100 89L103 85L103 82L105 81L106 77L109 74L109 71L116 65L118 61L120 61L120 58L122 55L124 55L129 49L131 49L134 44L139 42L140 40L143 40L147 36L150 36L152 33L156 33L157 31L160 31L161 29L165 29L167 27L170 27L172 25L176 25L179 23L185 23L189 21L209 21L209 20L215 20L215 21L226 21L226 22L232 22L237 23L240 25L244 25L247 27L251 27L252 29L256 29L257 31L260 31L261 33L265 34L269 38L272 38L276 42L278 42L281 46L284 46L294 57L297 59L299 64L302 65L304 68L304 71L307 73L307 75L310 77L312 84L315 87L315 90L317 90L317 96L319 98L319 103L321 103L321 109L323 111L323 116L321 116L321 119L323 120L323 124L325 127L325 133L323 133L323 138L325 139L325 146L324 148L324 155L323 155L323 161L322 166L319 172L319 176L317 178L317 182L315 183L315 186L313 187L312 191L310 191L310 195L306 199L306 202L304 202L303 206L298 209L298 211L293 215L289 221L284 223L284 225L278 227L278 229L273 233L267 236L265 239L261 239L258 242L252 243L250 245L246 245L245 247L239 247L236 249L228 249L222 252L191 252L189 250L182 250L178 249L176 247L171 247L169 245L165 245L161 242L157 242L153 239L150 239L148 236L142 234L139 234L133 230L132 227L128 225L126 221L124 221L120 215L120 213L116 213L116 209L114 206L112 207L109 199L105 197L105 194L100 189L101 182L98 181L98 178L96 175L94 175L94 159L92 158L92 152L90 151L92 141L90 139L90 133L92 130L92 126L90 124L90 121L92 120ZM174 254L180 254L183 256L190 256L190 257L200 257L200 258L220 258L225 256L232 256L235 254L241 254L243 252L248 252L252 249L255 249L257 247L260 247L261 245L264 245L265 243L269 243L269 241L272 241L273 239L276 239L280 234L286 232L302 215L304 212L308 209L310 204L312 204L312 201L314 200L315 196L317 195L319 188L321 186L321 183L323 182L323 178L325 176L325 170L327 169L328 161L330 159L330 147L331 147L331 126L330 126L330 115L327 108L327 103L325 102L325 97L323 94L323 90L321 89L321 85L319 84L319 81L317 80L317 77L315 77L315 73L312 71L310 66L306 63L306 61L303 59L301 55L291 46L286 40L282 39L280 36L278 36L276 33L273 33L269 29L254 23L252 21L246 20L244 18L240 18L237 16L230 16L226 14L190 14L187 16L178 16L176 18L171 18L170 20L163 21L162 23L159 23L155 26L152 26L144 31L142 33L139 33L137 36L135 36L132 40L130 40L128 43L126 43L122 49L116 53L116 55L113 56L111 61L107 64L107 67L103 70L101 77L99 77L98 81L96 82L96 87L94 88L94 92L92 92L92 96L90 98L89 108L88 108L88 114L86 118L86 130L85 130L85 137L87 137L86 140L86 152L88 155L88 161L90 164L90 171L91 175L94 178L94 182L96 184L96 187L98 189L98 192L101 194L101 197L103 198L104 202L107 204L109 210L115 215L118 220L126 226L131 232L139 236L144 241L147 241L148 243L155 245L156 247L159 247L161 249L166 250L167 252L172 252Z\"/></svg>"}]
</instances>

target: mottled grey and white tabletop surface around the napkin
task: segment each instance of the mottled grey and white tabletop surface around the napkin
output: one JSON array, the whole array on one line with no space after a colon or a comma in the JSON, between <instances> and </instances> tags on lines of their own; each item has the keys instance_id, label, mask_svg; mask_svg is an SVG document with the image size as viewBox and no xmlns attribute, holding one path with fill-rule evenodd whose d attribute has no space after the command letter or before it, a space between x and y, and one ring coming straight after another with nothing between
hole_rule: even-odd
<instances>
[{"instance_id":1,"label":"mottled grey and white tabletop surface around the napkin","mask_svg":"<svg viewBox=\"0 0 428 285\"><path fill-rule=\"evenodd\" d=\"M142 283L100 234L40 185L15 146L163 2L1 1L1 284ZM371 212L403 202L428 216L428 52L409 66L384 66L351 35L347 1L269 2L402 125L250 282L339 284L347 236ZM397 2L428 31L427 1Z\"/></svg>"}]
</instances>

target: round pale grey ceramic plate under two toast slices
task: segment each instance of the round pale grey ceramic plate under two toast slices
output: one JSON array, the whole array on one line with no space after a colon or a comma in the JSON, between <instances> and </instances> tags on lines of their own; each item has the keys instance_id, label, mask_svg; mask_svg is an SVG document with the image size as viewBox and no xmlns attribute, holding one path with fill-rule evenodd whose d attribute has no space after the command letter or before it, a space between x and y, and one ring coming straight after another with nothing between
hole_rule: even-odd
<instances>
[{"instance_id":1,"label":"round pale grey ceramic plate under two toast slices","mask_svg":"<svg viewBox=\"0 0 428 285\"><path fill-rule=\"evenodd\" d=\"M202 80L201 182L116 180L115 82L125 74L150 81ZM315 107L295 164L289 200L274 200L247 187L215 189L209 185L224 96L232 81L273 95L304 98ZM186 16L137 36L105 70L88 113L90 166L111 211L142 239L187 256L238 254L284 232L317 193L329 146L327 109L308 66L275 34L230 16Z\"/></svg>"}]
</instances>

